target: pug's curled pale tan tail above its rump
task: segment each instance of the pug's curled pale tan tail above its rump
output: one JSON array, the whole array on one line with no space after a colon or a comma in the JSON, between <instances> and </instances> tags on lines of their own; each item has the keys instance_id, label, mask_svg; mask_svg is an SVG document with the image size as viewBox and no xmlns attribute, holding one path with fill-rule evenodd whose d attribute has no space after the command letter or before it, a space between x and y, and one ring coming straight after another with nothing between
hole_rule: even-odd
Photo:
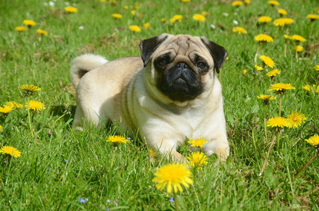
<instances>
[{"instance_id":1,"label":"pug's curled pale tan tail above its rump","mask_svg":"<svg viewBox=\"0 0 319 211\"><path fill-rule=\"evenodd\" d=\"M70 77L73 87L76 89L77 84L79 84L81 77L85 75L85 73L93 70L104 63L107 63L104 57L94 54L85 54L82 56L78 56L72 61Z\"/></svg>"}]
</instances>

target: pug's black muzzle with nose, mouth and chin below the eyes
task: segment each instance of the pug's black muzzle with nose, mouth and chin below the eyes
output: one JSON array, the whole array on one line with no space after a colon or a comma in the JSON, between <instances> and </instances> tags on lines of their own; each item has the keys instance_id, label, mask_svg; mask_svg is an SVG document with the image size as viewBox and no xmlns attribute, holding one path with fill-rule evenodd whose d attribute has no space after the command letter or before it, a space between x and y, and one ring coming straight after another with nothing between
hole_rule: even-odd
<instances>
[{"instance_id":1,"label":"pug's black muzzle with nose, mouth and chin below the eyes","mask_svg":"<svg viewBox=\"0 0 319 211\"><path fill-rule=\"evenodd\" d=\"M202 92L199 76L184 63L167 70L158 89L171 100L180 102L193 100Z\"/></svg>"}]
</instances>

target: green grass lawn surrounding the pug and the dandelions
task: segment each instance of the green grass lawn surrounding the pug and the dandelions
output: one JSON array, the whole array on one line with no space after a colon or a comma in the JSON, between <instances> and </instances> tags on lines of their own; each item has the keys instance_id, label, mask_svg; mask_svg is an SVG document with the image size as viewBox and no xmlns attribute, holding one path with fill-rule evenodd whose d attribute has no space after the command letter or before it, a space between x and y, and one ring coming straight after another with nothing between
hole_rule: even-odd
<instances>
[{"instance_id":1,"label":"green grass lawn surrounding the pug and the dandelions","mask_svg":"<svg viewBox=\"0 0 319 211\"><path fill-rule=\"evenodd\" d=\"M26 99L18 86L34 84L42 91L37 91L31 100L41 101L47 108L33 114L35 138L30 132L27 110L15 109L0 116L0 146L13 146L21 152L20 158L0 155L1 209L175 209L169 198L173 193L158 191L151 181L156 168L168 160L150 158L137 136L114 148L106 138L116 131L126 136L116 125L104 131L73 129L75 91L69 77L70 61L82 53L101 54L108 60L137 56L139 41L167 32L206 36L229 53L218 77L223 84L231 155L223 164L212 155L202 170L192 169L194 185L184 188L178 196L181 210L318 210L318 158L293 181L315 154L315 148L304 140L318 134L319 129L318 94L302 89L306 84L318 84L319 79L318 71L313 69L318 64L319 20L312 23L311 32L311 22L305 18L309 13L318 13L318 2L289 0L272 7L267 1L252 1L239 8L234 8L231 1L112 2L72 1L79 10L74 14L63 11L65 2L61 0L55 1L54 7L35 0L2 2L0 106L6 101L24 104ZM124 6L129 6L128 10ZM284 29L272 23L257 25L261 15L280 18L277 8L285 8L294 23ZM132 10L137 10L137 15L133 16ZM192 20L192 15L202 11L210 13L204 23ZM120 13L123 18L115 20L112 13ZM176 14L183 15L182 21L169 23ZM168 20L161 23L161 18ZM25 19L35 20L37 25L27 32L16 32L15 27ZM248 33L233 33L233 20ZM147 22L151 25L149 30L135 33L128 29ZM84 30L79 30L80 26ZM48 36L36 37L38 28L48 31ZM266 70L256 72L254 68L258 48L254 36L261 33L275 37L264 48L265 55L282 70L275 79L265 76ZM298 59L292 50L293 41L284 57L283 34L299 34L307 39ZM259 57L257 64L262 65ZM264 108L256 96L270 94L268 88L275 81L296 87L284 94L281 115L287 117L297 110L307 120L296 129L281 132L280 146L274 146L268 167L259 176L275 133L268 128L265 139ZM266 118L277 116L278 108L277 96L267 106ZM79 198L88 200L80 203Z\"/></svg>"}]
</instances>

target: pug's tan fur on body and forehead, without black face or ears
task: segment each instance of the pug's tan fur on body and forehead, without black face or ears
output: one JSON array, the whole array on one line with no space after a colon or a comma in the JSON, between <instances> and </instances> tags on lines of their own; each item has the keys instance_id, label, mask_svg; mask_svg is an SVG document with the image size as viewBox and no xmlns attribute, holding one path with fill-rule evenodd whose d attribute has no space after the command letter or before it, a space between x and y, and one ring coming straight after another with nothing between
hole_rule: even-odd
<instances>
[{"instance_id":1,"label":"pug's tan fur on body and forehead, without black face or ears","mask_svg":"<svg viewBox=\"0 0 319 211\"><path fill-rule=\"evenodd\" d=\"M172 101L156 88L158 75L153 59L166 51L176 53L174 63L189 62L194 51L209 61L212 70L201 77L205 90L194 100ZM75 59L73 67L80 62ZM134 56L87 68L89 72L78 84L73 84L77 87L75 127L89 123L104 127L108 121L117 122L129 132L138 129L139 136L150 148L182 162L185 158L176 151L177 147L184 143L185 137L201 136L208 140L203 147L206 155L218 153L225 160L229 144L221 86L213 70L213 58L199 37L168 34L168 39L151 54L149 64L145 68L143 65L141 58Z\"/></svg>"}]
</instances>

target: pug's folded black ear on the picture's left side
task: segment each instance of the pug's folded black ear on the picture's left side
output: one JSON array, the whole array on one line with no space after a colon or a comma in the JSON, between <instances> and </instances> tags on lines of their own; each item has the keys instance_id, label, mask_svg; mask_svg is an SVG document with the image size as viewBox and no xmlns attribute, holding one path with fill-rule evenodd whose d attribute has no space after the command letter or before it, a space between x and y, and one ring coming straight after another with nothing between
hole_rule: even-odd
<instances>
[{"instance_id":1,"label":"pug's folded black ear on the picture's left side","mask_svg":"<svg viewBox=\"0 0 319 211\"><path fill-rule=\"evenodd\" d=\"M151 54L157 49L157 47L165 41L168 37L168 34L161 34L158 37L152 37L149 39L144 39L139 44L139 49L141 49L141 56L144 63L144 67L149 63L149 58Z\"/></svg>"}]
</instances>

